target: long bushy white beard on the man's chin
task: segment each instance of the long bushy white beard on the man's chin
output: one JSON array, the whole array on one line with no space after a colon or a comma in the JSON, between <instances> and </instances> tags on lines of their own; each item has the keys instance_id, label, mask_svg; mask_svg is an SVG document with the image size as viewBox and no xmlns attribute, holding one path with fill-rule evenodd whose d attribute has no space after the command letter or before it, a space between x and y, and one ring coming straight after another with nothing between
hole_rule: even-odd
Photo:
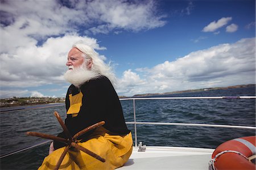
<instances>
[{"instance_id":1,"label":"long bushy white beard on the man's chin","mask_svg":"<svg viewBox=\"0 0 256 170\"><path fill-rule=\"evenodd\" d=\"M82 64L79 68L73 68L72 66L70 66L69 68L72 69L69 69L67 72L65 72L64 78L68 82L71 82L73 85L75 85L77 88L80 88L80 86L86 81L92 80L100 76L99 73L87 69L85 67L85 64Z\"/></svg>"}]
</instances>

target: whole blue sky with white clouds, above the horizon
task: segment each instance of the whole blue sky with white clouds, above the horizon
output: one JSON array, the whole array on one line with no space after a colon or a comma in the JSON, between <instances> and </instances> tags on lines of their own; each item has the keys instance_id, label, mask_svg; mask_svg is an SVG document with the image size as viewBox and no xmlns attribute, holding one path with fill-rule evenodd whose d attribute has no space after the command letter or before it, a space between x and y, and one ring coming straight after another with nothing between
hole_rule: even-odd
<instances>
[{"instance_id":1,"label":"whole blue sky with white clouds, above the horizon","mask_svg":"<svg viewBox=\"0 0 256 170\"><path fill-rule=\"evenodd\" d=\"M0 97L63 97L72 44L121 96L255 83L255 1L1 1Z\"/></svg>"}]
</instances>

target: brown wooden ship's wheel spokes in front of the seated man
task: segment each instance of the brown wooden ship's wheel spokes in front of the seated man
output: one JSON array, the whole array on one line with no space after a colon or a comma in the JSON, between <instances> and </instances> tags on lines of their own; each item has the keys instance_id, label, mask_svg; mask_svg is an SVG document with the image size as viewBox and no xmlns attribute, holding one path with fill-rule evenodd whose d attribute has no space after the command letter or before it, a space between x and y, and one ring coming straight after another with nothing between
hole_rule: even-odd
<instances>
[{"instance_id":1,"label":"brown wooden ship's wheel spokes in front of the seated man","mask_svg":"<svg viewBox=\"0 0 256 170\"><path fill-rule=\"evenodd\" d=\"M102 162L105 162L105 159L102 158L101 156L99 156L97 154L94 154L92 151L89 151L88 149L86 149L86 148L80 146L79 144L77 144L77 143L79 143L79 140L77 140L77 138L79 138L79 136L85 134L86 132L88 132L90 130L93 130L94 128L97 128L99 126L104 125L105 124L104 121L98 122L98 123L96 123L92 126L86 127L86 128L84 128L84 130L81 130L81 131L77 132L77 134L75 134L74 136L71 136L71 134L68 131L67 126L65 126L63 120L60 118L59 113L57 113L57 111L55 111L54 115L57 118L57 120L59 121L61 127L63 128L63 131L64 131L65 135L68 136L68 139L60 138L60 137L53 136L53 135L43 134L43 133L40 133L40 132L27 132L26 134L30 135L30 136L37 136L39 138L44 138L44 139L52 139L52 140L56 140L58 142L62 142L62 143L66 144L65 150L61 154L60 159L59 159L59 161L57 162L57 164L55 166L55 169L59 169L61 162L63 161L65 155L67 154L69 148L71 148L71 147L77 148L77 150L83 151L86 154L88 154L92 157L95 157L96 159L98 159Z\"/></svg>"}]
</instances>

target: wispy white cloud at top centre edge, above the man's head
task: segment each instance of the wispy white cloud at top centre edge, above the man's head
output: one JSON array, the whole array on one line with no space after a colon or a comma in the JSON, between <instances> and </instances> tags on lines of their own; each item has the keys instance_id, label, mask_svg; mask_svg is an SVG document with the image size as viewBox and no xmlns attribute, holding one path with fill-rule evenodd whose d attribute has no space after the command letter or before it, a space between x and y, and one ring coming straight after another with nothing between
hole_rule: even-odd
<instances>
[{"instance_id":1,"label":"wispy white cloud at top centre edge, above the man's head","mask_svg":"<svg viewBox=\"0 0 256 170\"><path fill-rule=\"evenodd\" d=\"M96 0L90 2L86 10L89 18L96 19L100 23L96 27L89 28L88 31L93 34L106 34L115 29L148 30L166 24L162 20L164 15L155 15L157 9L154 1Z\"/></svg>"}]
</instances>

